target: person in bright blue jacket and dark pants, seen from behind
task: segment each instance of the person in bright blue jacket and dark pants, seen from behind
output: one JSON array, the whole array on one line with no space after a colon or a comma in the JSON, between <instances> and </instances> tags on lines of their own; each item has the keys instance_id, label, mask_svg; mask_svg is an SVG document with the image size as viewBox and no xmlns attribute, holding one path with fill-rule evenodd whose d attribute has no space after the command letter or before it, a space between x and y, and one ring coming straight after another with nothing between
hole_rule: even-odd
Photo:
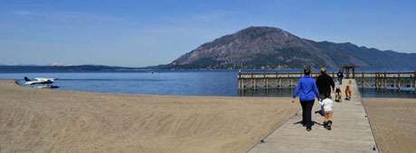
<instances>
[{"instance_id":1,"label":"person in bright blue jacket and dark pants, seen from behind","mask_svg":"<svg viewBox=\"0 0 416 153\"><path fill-rule=\"evenodd\" d=\"M312 107L315 103L315 97L319 97L315 79L310 76L310 67L304 67L304 75L299 78L293 93L292 103L299 96L300 105L302 106L302 124L307 127L307 131L312 130Z\"/></svg>"}]
</instances>

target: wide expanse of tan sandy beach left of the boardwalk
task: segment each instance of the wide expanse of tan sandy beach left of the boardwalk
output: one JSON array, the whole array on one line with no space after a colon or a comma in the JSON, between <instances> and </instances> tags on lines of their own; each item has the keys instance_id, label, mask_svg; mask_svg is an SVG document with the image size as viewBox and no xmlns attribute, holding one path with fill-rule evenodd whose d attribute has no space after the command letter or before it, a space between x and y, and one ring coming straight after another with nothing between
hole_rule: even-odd
<instances>
[{"instance_id":1,"label":"wide expanse of tan sandy beach left of the boardwalk","mask_svg":"<svg viewBox=\"0 0 416 153\"><path fill-rule=\"evenodd\" d=\"M288 98L98 94L0 80L0 152L245 152Z\"/></svg>"}]
</instances>

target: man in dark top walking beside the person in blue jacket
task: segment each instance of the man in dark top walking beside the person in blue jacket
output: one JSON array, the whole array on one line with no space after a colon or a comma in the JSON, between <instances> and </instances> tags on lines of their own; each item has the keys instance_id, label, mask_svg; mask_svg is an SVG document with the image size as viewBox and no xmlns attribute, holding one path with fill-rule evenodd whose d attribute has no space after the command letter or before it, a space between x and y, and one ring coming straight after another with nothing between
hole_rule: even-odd
<instances>
[{"instance_id":1,"label":"man in dark top walking beside the person in blue jacket","mask_svg":"<svg viewBox=\"0 0 416 153\"><path fill-rule=\"evenodd\" d=\"M336 84L331 76L326 74L326 67L321 68L321 73L317 76L317 89L321 99L324 97L331 97L331 87L335 90Z\"/></svg>"}]
</instances>

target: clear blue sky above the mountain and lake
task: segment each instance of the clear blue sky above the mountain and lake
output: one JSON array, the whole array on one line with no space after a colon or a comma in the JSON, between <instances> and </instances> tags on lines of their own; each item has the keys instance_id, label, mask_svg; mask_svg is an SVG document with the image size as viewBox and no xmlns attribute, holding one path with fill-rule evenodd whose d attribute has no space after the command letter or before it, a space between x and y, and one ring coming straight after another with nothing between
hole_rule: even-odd
<instances>
[{"instance_id":1,"label":"clear blue sky above the mountain and lake","mask_svg":"<svg viewBox=\"0 0 416 153\"><path fill-rule=\"evenodd\" d=\"M416 1L0 0L0 64L165 64L249 26L416 52Z\"/></svg>"}]
</instances>

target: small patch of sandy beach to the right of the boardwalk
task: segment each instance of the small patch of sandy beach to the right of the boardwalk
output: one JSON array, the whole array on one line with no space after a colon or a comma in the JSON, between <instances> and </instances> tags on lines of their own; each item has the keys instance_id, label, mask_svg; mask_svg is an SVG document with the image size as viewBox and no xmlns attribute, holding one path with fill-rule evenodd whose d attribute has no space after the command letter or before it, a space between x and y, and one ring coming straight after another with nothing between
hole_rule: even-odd
<instances>
[{"instance_id":1,"label":"small patch of sandy beach to the right of the boardwalk","mask_svg":"<svg viewBox=\"0 0 416 153\"><path fill-rule=\"evenodd\" d=\"M381 152L416 152L416 99L364 98Z\"/></svg>"}]
</instances>

